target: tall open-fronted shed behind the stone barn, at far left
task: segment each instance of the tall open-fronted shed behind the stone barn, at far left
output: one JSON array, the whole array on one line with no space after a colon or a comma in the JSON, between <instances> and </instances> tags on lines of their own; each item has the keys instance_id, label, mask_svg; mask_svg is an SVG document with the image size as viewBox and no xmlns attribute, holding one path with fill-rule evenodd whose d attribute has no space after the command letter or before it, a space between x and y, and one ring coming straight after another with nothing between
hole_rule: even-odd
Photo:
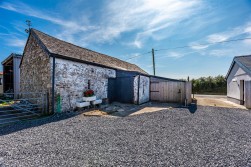
<instances>
[{"instance_id":1,"label":"tall open-fronted shed behind the stone barn, at far left","mask_svg":"<svg viewBox=\"0 0 251 167\"><path fill-rule=\"evenodd\" d=\"M22 55L12 53L4 61L3 65L3 92L17 93L20 91L20 61Z\"/></svg>"}]
</instances>

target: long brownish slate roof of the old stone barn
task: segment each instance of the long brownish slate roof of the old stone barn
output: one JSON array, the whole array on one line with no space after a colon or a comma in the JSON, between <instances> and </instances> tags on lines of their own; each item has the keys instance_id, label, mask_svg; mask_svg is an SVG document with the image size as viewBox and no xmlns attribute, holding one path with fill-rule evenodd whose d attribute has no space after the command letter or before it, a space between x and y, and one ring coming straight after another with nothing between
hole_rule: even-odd
<instances>
[{"instance_id":1,"label":"long brownish slate roof of the old stone barn","mask_svg":"<svg viewBox=\"0 0 251 167\"><path fill-rule=\"evenodd\" d=\"M35 35L41 40L42 44L51 54L83 60L85 62L102 65L108 68L111 67L119 70L135 71L142 74L147 74L147 72L145 72L135 64L131 64L102 53L76 46L74 44L47 35L36 29L32 28L31 33L35 33Z\"/></svg>"}]
</instances>

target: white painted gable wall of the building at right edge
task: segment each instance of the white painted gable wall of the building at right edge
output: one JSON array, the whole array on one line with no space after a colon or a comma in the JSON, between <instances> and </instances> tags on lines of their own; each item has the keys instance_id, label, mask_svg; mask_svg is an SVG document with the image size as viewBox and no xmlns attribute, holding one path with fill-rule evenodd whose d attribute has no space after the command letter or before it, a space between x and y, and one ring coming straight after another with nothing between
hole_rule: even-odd
<instances>
[{"instance_id":1,"label":"white painted gable wall of the building at right edge","mask_svg":"<svg viewBox=\"0 0 251 167\"><path fill-rule=\"evenodd\" d=\"M237 82L232 80L236 78ZM238 64L234 64L228 78L227 78L227 96L240 100L240 80L251 80L251 76L248 75ZM244 92L245 94L246 92Z\"/></svg>"}]
</instances>

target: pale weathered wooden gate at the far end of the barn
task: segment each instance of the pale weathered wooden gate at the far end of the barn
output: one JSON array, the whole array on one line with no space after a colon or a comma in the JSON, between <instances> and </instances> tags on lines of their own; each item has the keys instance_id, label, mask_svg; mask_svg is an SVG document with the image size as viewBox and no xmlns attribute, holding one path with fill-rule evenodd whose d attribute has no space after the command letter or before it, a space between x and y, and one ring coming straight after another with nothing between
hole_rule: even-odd
<instances>
[{"instance_id":1,"label":"pale weathered wooden gate at the far end of the barn","mask_svg":"<svg viewBox=\"0 0 251 167\"><path fill-rule=\"evenodd\" d=\"M151 82L151 101L183 103L185 99L185 82Z\"/></svg>"}]
</instances>

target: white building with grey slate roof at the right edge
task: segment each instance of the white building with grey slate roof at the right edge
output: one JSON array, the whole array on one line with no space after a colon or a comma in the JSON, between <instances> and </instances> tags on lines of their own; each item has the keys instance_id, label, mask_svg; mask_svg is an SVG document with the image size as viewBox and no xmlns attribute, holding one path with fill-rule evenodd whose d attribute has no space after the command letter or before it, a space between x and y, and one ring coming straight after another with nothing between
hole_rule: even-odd
<instances>
[{"instance_id":1,"label":"white building with grey slate roof at the right edge","mask_svg":"<svg viewBox=\"0 0 251 167\"><path fill-rule=\"evenodd\" d=\"M234 57L226 79L228 100L251 108L251 55Z\"/></svg>"}]
</instances>

